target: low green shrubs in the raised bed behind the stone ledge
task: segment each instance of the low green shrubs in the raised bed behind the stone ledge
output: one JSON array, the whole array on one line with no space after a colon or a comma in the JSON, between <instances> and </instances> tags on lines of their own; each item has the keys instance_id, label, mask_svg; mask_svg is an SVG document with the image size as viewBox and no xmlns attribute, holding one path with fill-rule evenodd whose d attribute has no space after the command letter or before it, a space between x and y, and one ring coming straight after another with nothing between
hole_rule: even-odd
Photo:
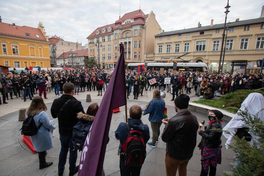
<instances>
[{"instance_id":1,"label":"low green shrubs in the raised bed behind the stone ledge","mask_svg":"<svg viewBox=\"0 0 264 176\"><path fill-rule=\"evenodd\" d=\"M241 107L241 104L243 101L247 98L247 96L250 93L260 93L264 96L264 92L261 89L257 90L237 90L235 92L226 94L222 96L220 99L214 99L212 100L207 100L207 99L201 99L201 100L195 100L193 101L194 103L200 103L200 104L205 104L208 106L212 106L215 108L220 108L229 112L236 113L239 108ZM225 105L225 107L223 107Z\"/></svg>"}]
</instances>

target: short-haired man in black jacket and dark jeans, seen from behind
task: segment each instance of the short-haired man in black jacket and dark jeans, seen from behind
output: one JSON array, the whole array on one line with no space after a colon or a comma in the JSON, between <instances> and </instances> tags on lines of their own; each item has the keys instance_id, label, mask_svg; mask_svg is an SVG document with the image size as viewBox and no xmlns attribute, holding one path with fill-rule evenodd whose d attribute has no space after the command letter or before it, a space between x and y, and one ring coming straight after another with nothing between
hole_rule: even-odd
<instances>
[{"instance_id":1,"label":"short-haired man in black jacket and dark jeans, seen from behind","mask_svg":"<svg viewBox=\"0 0 264 176\"><path fill-rule=\"evenodd\" d=\"M59 140L61 143L61 149L59 153L59 164L58 164L58 172L59 175L63 174L64 165L66 164L67 154L70 151L70 174L74 175L78 172L78 166L76 166L77 160L77 151L74 150L73 143L71 141L72 138L72 128L74 125L78 123L77 113L83 111L83 107L81 102L73 97L74 94L74 85L71 82L67 82L63 85L64 94L55 99L51 106L51 115L53 118L58 118L59 121ZM68 101L69 100L69 101ZM68 101L68 103L66 103ZM66 106L64 106L66 104ZM63 108L64 106L64 108ZM60 111L60 109L62 109Z\"/></svg>"}]
</instances>

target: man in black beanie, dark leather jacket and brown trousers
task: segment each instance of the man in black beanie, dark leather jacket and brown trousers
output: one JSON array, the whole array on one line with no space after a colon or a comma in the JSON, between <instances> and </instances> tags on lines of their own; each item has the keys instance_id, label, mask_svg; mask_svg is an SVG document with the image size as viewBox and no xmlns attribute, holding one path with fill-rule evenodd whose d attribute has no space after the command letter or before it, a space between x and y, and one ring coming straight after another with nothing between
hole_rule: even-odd
<instances>
[{"instance_id":1,"label":"man in black beanie, dark leather jacket and brown trousers","mask_svg":"<svg viewBox=\"0 0 264 176\"><path fill-rule=\"evenodd\" d=\"M166 175L187 175L187 165L196 146L198 121L188 109L190 97L181 94L174 100L177 114L171 119L163 119L165 124L161 135L166 143Z\"/></svg>"}]
</instances>

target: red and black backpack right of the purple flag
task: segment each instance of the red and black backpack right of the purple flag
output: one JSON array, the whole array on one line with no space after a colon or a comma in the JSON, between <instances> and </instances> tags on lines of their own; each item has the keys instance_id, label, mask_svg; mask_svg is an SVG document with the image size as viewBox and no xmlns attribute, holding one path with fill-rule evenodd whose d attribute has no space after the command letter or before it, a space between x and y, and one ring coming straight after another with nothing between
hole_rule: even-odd
<instances>
[{"instance_id":1,"label":"red and black backpack right of the purple flag","mask_svg":"<svg viewBox=\"0 0 264 176\"><path fill-rule=\"evenodd\" d=\"M147 156L146 144L141 131L134 130L125 123L128 132L119 148L120 159L128 166L142 166Z\"/></svg>"}]
</instances>

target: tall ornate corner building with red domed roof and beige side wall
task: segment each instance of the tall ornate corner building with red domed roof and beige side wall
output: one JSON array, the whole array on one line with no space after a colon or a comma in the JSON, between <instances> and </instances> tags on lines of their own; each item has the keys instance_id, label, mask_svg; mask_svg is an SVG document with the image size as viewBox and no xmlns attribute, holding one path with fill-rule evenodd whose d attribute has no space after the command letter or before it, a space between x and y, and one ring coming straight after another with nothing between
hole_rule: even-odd
<instances>
[{"instance_id":1,"label":"tall ornate corner building with red domed roof and beige side wall","mask_svg":"<svg viewBox=\"0 0 264 176\"><path fill-rule=\"evenodd\" d=\"M144 62L146 54L154 53L154 35L160 32L161 27L152 11L147 15L141 10L126 13L115 23L97 28L87 37L89 57L100 60L101 68L114 68L119 44L124 44L126 65Z\"/></svg>"}]
</instances>

